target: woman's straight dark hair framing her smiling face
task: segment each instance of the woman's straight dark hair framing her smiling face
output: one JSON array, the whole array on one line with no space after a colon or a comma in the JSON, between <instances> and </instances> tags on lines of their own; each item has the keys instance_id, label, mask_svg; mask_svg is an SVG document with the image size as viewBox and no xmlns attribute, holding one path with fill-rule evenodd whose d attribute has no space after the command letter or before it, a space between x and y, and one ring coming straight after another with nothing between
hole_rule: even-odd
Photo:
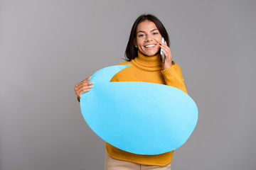
<instances>
[{"instance_id":1,"label":"woman's straight dark hair framing her smiling face","mask_svg":"<svg viewBox=\"0 0 256 170\"><path fill-rule=\"evenodd\" d=\"M134 38L136 38L137 26L139 25L139 23L142 23L146 20L152 21L154 24L156 24L156 28L159 30L161 36L164 38L164 40L166 40L167 45L170 46L169 35L159 18L156 18L156 16L153 16L151 14L142 14L134 22L131 33L129 35L129 41L125 50L125 60L127 61L131 61L138 56L138 49L137 47L134 47Z\"/></svg>"}]
</instances>

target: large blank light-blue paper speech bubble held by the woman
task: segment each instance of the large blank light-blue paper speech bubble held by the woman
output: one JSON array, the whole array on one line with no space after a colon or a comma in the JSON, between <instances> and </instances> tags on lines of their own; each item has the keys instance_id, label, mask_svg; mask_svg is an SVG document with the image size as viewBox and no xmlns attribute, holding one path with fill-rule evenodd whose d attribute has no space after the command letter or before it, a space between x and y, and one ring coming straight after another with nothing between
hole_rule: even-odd
<instances>
[{"instance_id":1,"label":"large blank light-blue paper speech bubble held by the woman","mask_svg":"<svg viewBox=\"0 0 256 170\"><path fill-rule=\"evenodd\" d=\"M196 127L196 103L172 86L110 82L129 65L105 67L92 75L94 87L80 98L85 121L102 140L134 154L163 154L181 147Z\"/></svg>"}]
</instances>

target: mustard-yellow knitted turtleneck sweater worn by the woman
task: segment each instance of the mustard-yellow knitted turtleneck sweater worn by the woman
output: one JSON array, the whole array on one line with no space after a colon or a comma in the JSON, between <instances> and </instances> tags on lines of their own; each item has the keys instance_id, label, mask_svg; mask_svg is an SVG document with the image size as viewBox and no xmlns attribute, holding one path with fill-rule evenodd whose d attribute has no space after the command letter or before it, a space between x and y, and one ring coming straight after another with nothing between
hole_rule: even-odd
<instances>
[{"instance_id":1,"label":"mustard-yellow knitted turtleneck sweater worn by the woman","mask_svg":"<svg viewBox=\"0 0 256 170\"><path fill-rule=\"evenodd\" d=\"M163 69L161 55L148 57L138 51L138 57L130 62L119 65L132 64L114 75L111 81L144 81L155 84L166 84L181 89L187 94L181 69L174 63L169 69ZM145 96L146 97L146 96ZM132 107L132 106L131 106ZM171 163L174 151L157 155L142 155L125 152L106 143L107 153L114 159L119 159L137 164L166 166Z\"/></svg>"}]
</instances>

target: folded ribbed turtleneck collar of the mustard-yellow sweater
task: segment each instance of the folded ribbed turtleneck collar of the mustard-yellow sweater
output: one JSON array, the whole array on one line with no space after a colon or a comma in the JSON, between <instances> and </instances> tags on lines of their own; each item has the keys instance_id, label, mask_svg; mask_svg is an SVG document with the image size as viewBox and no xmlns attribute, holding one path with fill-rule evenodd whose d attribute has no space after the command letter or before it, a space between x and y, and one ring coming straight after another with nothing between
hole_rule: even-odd
<instances>
[{"instance_id":1,"label":"folded ribbed turtleneck collar of the mustard-yellow sweater","mask_svg":"<svg viewBox=\"0 0 256 170\"><path fill-rule=\"evenodd\" d=\"M146 56L138 50L138 57L132 60L132 63L141 69L148 71L158 71L163 69L163 63L161 62L161 55L157 53L154 56Z\"/></svg>"}]
</instances>

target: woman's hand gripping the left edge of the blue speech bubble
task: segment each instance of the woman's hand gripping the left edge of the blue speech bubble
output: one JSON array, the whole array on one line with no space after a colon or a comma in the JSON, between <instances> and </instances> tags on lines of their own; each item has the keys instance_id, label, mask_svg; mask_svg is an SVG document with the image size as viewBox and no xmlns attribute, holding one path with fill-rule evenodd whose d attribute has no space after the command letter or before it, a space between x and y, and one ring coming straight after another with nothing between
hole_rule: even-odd
<instances>
[{"instance_id":1,"label":"woman's hand gripping the left edge of the blue speech bubble","mask_svg":"<svg viewBox=\"0 0 256 170\"><path fill-rule=\"evenodd\" d=\"M94 82L89 81L92 77L88 77L87 79L84 79L78 84L75 84L75 94L78 96L78 100L80 100L80 96L92 89L93 86L91 86Z\"/></svg>"}]
</instances>

